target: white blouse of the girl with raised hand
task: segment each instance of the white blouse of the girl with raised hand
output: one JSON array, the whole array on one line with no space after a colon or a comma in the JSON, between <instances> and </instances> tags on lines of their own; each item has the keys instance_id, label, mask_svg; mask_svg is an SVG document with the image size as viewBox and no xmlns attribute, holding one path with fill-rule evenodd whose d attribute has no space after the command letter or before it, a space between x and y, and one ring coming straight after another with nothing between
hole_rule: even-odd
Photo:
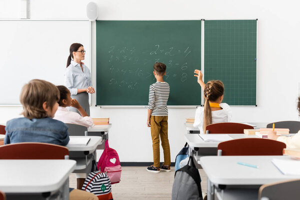
<instances>
[{"instance_id":1,"label":"white blouse of the girl with raised hand","mask_svg":"<svg viewBox=\"0 0 300 200\"><path fill-rule=\"evenodd\" d=\"M211 111L212 123L230 122L232 113L231 108L227 103L220 103L220 107L223 109ZM204 107L198 107L195 113L194 127L200 129L200 134L203 134L203 119L204 119Z\"/></svg>"}]
</instances>

